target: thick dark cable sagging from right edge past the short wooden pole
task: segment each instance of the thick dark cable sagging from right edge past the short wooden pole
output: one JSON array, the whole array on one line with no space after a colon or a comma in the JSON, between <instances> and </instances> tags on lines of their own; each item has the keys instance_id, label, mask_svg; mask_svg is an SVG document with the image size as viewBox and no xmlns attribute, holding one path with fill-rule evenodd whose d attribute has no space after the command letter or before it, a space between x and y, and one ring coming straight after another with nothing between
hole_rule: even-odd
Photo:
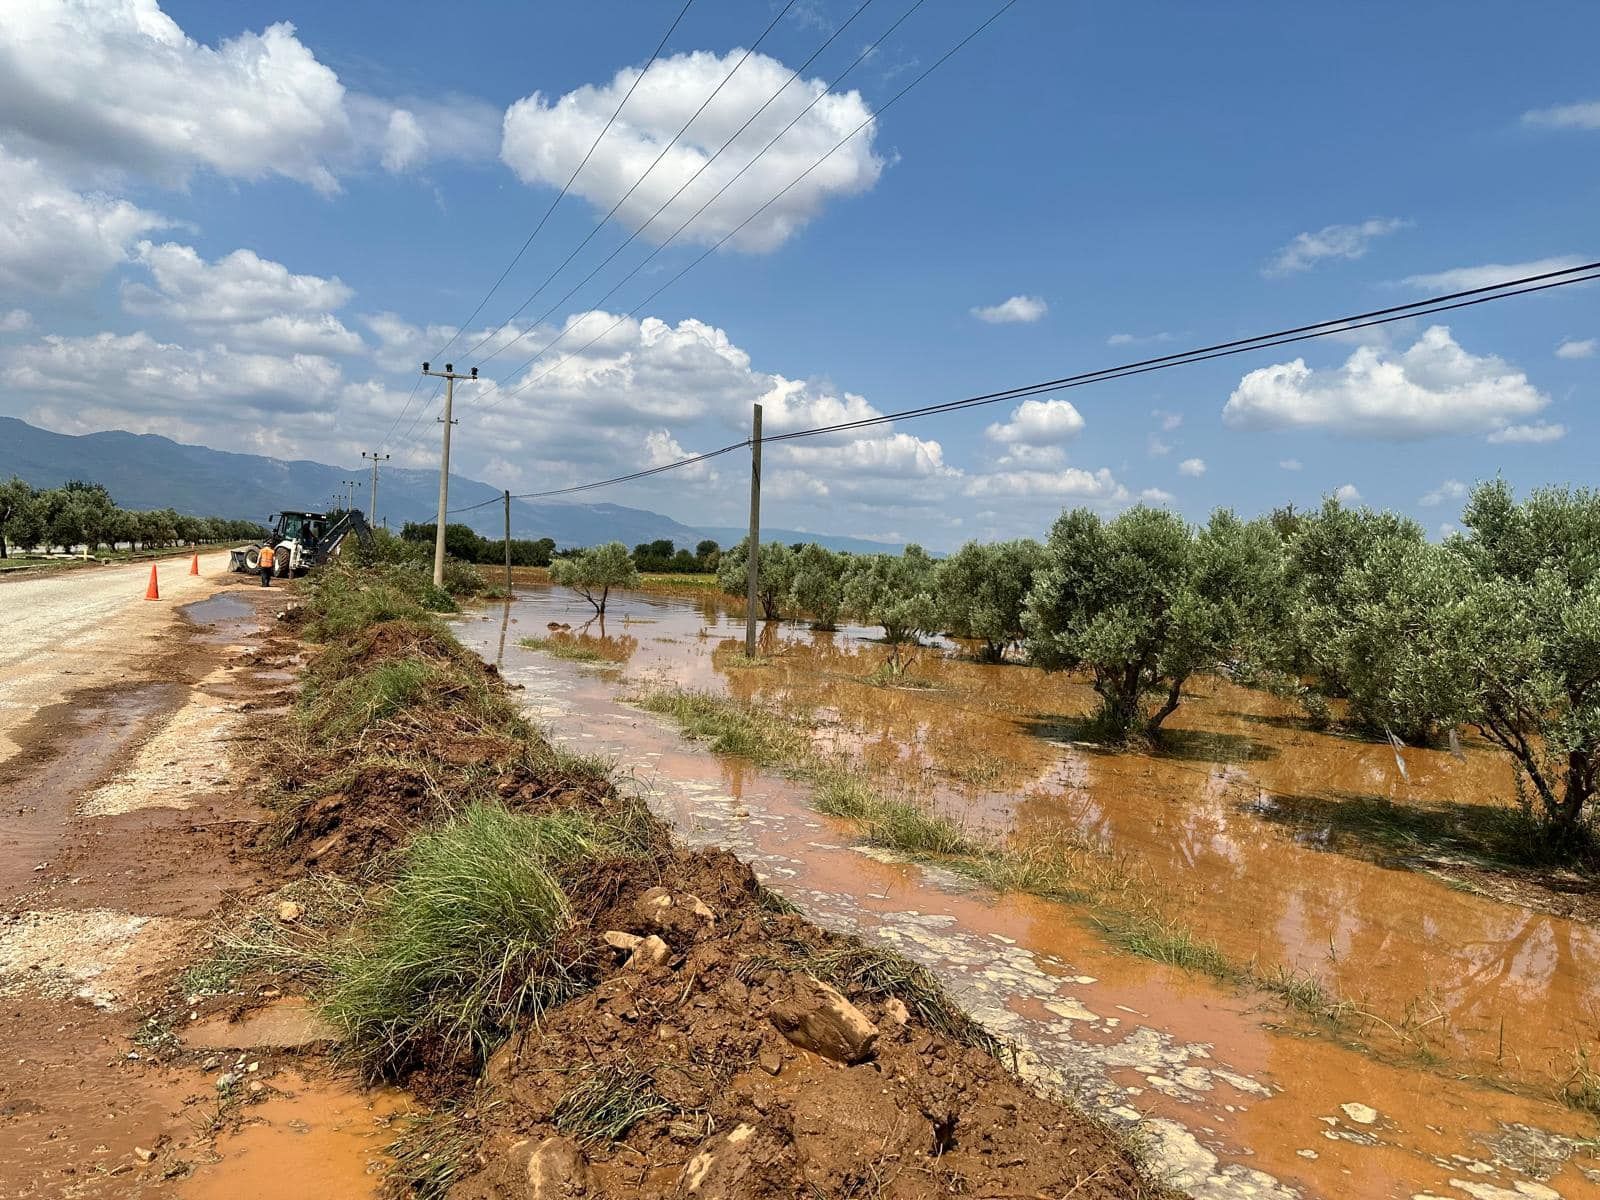
<instances>
[{"instance_id":1,"label":"thick dark cable sagging from right edge past the short wooden pole","mask_svg":"<svg viewBox=\"0 0 1600 1200\"><path fill-rule=\"evenodd\" d=\"M1490 283L1480 288L1469 288L1466 291L1453 291L1442 296L1411 301L1406 304L1394 304L1386 309L1371 309L1368 312L1354 314L1350 317L1336 317L1333 320L1314 322L1310 325L1299 325L1290 330L1278 330L1275 333L1262 333L1253 338L1238 338L1227 342L1200 346L1192 350L1166 354L1157 358L1141 358L1131 363L1122 363L1118 366L1106 366L1098 371L1083 371L1080 374L1061 376L1059 379L1046 379L1037 384L1024 384L1021 387L1010 387L1000 392L986 392L981 395L965 397L962 400L949 400L939 405L904 408L896 413L882 413L878 416L862 418L859 421L843 421L832 426L797 429L789 434L773 434L763 440L792 442L805 437L821 437L824 434L838 434L853 429L864 429L867 426L886 424L890 421L912 421L917 418L933 416L938 413L952 413L963 408L979 408L982 405L1002 403L1005 400L1019 400L1030 395L1043 395L1046 392L1061 392L1070 387L1085 387L1094 382L1107 382L1110 379L1125 379L1134 374L1146 374L1149 371L1162 371L1173 366L1187 366L1190 363L1208 362L1211 358L1226 358L1235 354L1246 354L1250 350L1266 350L1277 346L1290 346L1293 342L1309 341L1314 338L1328 338L1331 334L1346 333L1350 330L1365 330L1376 325L1389 325L1402 320L1414 320L1418 317L1430 317L1440 312L1467 309L1477 304L1488 304L1491 301L1510 299L1514 296L1528 296L1539 291L1549 291L1552 288L1565 288L1573 283L1589 283L1595 280L1600 280L1600 261L1587 262L1578 267L1565 267L1562 270L1549 270L1538 275L1523 275L1522 278L1502 280L1499 283ZM674 462L666 462L662 466L651 467L648 470L638 470L629 475L618 475L614 478L606 478L606 480L594 480L590 483L578 483L566 488L550 488L547 491L526 491L515 494L514 499L541 499L546 496L565 496L574 491L589 491L594 488L611 486L614 483L630 483L634 480L648 478L651 475L661 475L664 472L677 470L680 467L690 467L698 462L706 462L707 459L728 454L734 450L742 450L744 446L749 445L750 440L744 438L741 442L734 442L718 450L710 450Z\"/></svg>"}]
</instances>

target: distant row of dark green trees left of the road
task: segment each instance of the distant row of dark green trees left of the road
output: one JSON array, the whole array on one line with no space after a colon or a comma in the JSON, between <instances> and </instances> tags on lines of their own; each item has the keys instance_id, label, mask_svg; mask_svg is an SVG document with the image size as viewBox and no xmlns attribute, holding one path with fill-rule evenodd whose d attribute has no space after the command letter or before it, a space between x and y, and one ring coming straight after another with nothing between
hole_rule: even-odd
<instances>
[{"instance_id":1,"label":"distant row of dark green trees left of the road","mask_svg":"<svg viewBox=\"0 0 1600 1200\"><path fill-rule=\"evenodd\" d=\"M18 550L98 550L259 541L256 522L189 517L173 509L123 509L102 483L70 480L59 488L34 488L18 477L0 483L0 558Z\"/></svg>"}]
</instances>

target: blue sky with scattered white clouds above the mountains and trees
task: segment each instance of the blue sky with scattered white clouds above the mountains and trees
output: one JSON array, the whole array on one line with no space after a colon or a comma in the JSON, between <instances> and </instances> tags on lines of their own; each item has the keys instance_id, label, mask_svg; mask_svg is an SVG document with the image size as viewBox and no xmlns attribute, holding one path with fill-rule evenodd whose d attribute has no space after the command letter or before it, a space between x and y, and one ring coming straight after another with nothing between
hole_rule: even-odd
<instances>
[{"instance_id":1,"label":"blue sky with scattered white clouds above the mountains and trees","mask_svg":"<svg viewBox=\"0 0 1600 1200\"><path fill-rule=\"evenodd\" d=\"M872 0L685 197L750 162L910 5ZM728 78L781 3L693 0L446 354L496 381L458 392L458 470L566 486L736 440L752 400L770 429L894 411L1469 286L1496 264L1600 258L1590 5L1019 0L878 115L998 6L926 0L642 274L602 301L691 208L528 328L858 6L798 0ZM416 362L533 229L680 0L13 8L0 411L344 464L382 443L426 466ZM723 78L573 267L466 357ZM619 320L861 120L768 211L782 221ZM1350 488L1438 530L1461 485L1496 472L1594 483L1597 362L1597 291L1568 288L773 446L765 520L949 549L1040 534L1074 504L1202 518ZM728 456L589 498L738 523L744 488Z\"/></svg>"}]
</instances>

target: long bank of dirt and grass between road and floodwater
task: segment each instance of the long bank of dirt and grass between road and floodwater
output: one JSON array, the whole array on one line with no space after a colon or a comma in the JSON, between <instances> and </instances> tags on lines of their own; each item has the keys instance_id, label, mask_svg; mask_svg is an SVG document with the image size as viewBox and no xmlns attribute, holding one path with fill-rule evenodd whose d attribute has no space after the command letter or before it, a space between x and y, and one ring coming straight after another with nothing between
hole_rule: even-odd
<instances>
[{"instance_id":1,"label":"long bank of dirt and grass between road and floodwater","mask_svg":"<svg viewBox=\"0 0 1600 1200\"><path fill-rule=\"evenodd\" d=\"M397 1126L392 1195L526 1187L552 1144L579 1173L696 1147L726 1158L736 1128L778 1171L773 1197L802 1176L837 1195L901 1174L917 1194L1008 1182L954 1122L973 1147L1010 1144L1029 1190L1162 1194L1120 1134L997 1062L1000 1043L923 968L818 930L728 854L674 846L605 765L550 747L434 616L450 597L424 565L403 550L336 565L304 594L296 619L322 650L277 733L270 838L301 875L275 898L294 917L235 922L186 982L304 990L342 1056L437 1102ZM872 1037L816 1053L882 1072L818 1074L802 1046L822 1013ZM773 1099L736 1083L752 1075L778 1080ZM842 1086L890 1102L907 1138L864 1160ZM774 1104L822 1136L792 1141Z\"/></svg>"}]
</instances>

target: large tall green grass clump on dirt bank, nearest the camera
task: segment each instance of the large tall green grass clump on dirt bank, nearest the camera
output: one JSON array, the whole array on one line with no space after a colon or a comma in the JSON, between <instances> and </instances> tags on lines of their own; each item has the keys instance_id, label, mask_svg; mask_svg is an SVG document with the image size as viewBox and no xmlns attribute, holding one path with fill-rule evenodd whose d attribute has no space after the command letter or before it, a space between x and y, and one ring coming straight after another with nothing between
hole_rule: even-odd
<instances>
[{"instance_id":1,"label":"large tall green grass clump on dirt bank, nearest the camera","mask_svg":"<svg viewBox=\"0 0 1600 1200\"><path fill-rule=\"evenodd\" d=\"M418 834L333 949L323 1014L373 1075L424 1048L482 1061L514 1018L568 994L550 955L571 914L555 872L594 853L592 822L571 811L480 803Z\"/></svg>"}]
</instances>

